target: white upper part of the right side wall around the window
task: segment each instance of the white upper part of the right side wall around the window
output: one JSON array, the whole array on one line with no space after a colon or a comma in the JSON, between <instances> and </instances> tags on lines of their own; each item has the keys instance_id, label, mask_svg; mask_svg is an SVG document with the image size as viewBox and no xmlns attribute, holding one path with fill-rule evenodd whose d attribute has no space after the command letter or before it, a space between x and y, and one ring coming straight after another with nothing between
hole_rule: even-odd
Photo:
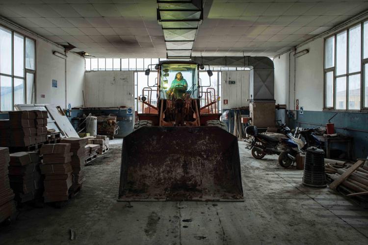
<instances>
[{"instance_id":1,"label":"white upper part of the right side wall around the window","mask_svg":"<svg viewBox=\"0 0 368 245\"><path fill-rule=\"evenodd\" d=\"M294 57L294 51L276 56L273 59L275 65L275 99L276 103L289 103L288 109L295 109L295 99L299 99L299 107L303 106L307 111L323 110L323 52L324 38L345 29L348 26L361 22L364 18L356 20L345 26L340 26L331 33L314 39L296 49L300 52L308 49L309 53L300 57ZM289 66L290 57L290 66ZM295 83L294 83L295 60ZM290 74L289 74L290 72ZM295 84L295 91L294 91ZM289 95L287 94L289 86Z\"/></svg>"}]
</instances>

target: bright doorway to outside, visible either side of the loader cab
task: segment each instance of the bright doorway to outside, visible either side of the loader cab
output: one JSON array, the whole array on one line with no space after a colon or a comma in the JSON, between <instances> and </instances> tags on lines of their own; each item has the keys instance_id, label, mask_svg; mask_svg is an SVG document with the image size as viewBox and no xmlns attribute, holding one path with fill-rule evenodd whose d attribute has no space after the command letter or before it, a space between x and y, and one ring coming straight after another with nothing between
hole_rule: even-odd
<instances>
[{"instance_id":1,"label":"bright doorway to outside, visible either side of the loader cab","mask_svg":"<svg viewBox=\"0 0 368 245\"><path fill-rule=\"evenodd\" d=\"M143 113L142 102L140 98L145 96L147 102L157 107L157 72L155 70L146 76L144 72L134 72L134 112ZM222 72L213 71L213 75L209 77L206 71L199 72L199 79L201 84L201 107L208 103L208 101L220 100L216 103L218 113L222 110ZM170 81L169 81L170 83ZM151 109L144 107L145 113L154 113Z\"/></svg>"}]
</instances>

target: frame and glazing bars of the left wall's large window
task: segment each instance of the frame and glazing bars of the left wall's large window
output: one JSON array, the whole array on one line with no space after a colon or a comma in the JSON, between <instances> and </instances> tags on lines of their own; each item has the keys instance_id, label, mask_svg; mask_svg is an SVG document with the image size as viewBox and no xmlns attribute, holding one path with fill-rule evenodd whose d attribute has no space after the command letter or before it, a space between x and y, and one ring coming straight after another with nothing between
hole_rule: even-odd
<instances>
[{"instance_id":1,"label":"frame and glazing bars of the left wall's large window","mask_svg":"<svg viewBox=\"0 0 368 245\"><path fill-rule=\"evenodd\" d=\"M33 86L34 86L34 91L32 94L37 95L37 87L36 87L36 71L37 71L37 42L36 39L24 35L18 31L15 31L5 25L1 25L0 27L9 30L11 32L11 43L12 43L12 47L11 47L11 57L12 57L12 62L11 62L11 74L5 74L5 73L0 73L0 76L6 76L6 77L10 77L11 78L11 83L12 83L12 110L14 111L14 79L18 78L18 79L22 79L23 80L23 99L24 99L24 103L26 103L27 101L27 84L26 84L26 74L27 73L33 73ZM14 34L17 34L19 36L23 37L23 77L18 76L18 75L14 75ZM26 39L32 40L34 42L34 70L31 70L29 68L26 68ZM34 99L34 103L37 103L36 98ZM0 101L1 103L1 101ZM0 105L1 106L1 105ZM1 107L0 107L1 108ZM1 111L0 112L7 112L7 111Z\"/></svg>"}]
</instances>

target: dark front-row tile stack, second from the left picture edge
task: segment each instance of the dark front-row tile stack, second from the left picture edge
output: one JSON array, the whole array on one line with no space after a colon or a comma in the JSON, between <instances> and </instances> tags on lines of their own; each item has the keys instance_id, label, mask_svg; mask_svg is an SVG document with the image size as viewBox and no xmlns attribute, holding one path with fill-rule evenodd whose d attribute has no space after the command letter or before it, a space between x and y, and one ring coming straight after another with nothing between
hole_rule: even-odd
<instances>
[{"instance_id":1,"label":"dark front-row tile stack, second from the left picture edge","mask_svg":"<svg viewBox=\"0 0 368 245\"><path fill-rule=\"evenodd\" d=\"M36 151L10 154L9 180L15 200L26 202L40 196L42 180L39 163L40 156Z\"/></svg>"}]
</instances>

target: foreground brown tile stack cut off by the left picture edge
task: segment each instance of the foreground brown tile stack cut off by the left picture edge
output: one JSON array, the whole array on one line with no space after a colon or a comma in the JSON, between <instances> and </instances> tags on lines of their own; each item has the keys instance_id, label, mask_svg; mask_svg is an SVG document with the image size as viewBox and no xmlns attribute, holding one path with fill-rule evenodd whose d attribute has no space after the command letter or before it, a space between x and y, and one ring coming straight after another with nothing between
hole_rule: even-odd
<instances>
[{"instance_id":1,"label":"foreground brown tile stack cut off by the left picture edge","mask_svg":"<svg viewBox=\"0 0 368 245\"><path fill-rule=\"evenodd\" d=\"M8 178L9 149L0 147L0 222L8 219L15 212L14 192Z\"/></svg>"}]
</instances>

